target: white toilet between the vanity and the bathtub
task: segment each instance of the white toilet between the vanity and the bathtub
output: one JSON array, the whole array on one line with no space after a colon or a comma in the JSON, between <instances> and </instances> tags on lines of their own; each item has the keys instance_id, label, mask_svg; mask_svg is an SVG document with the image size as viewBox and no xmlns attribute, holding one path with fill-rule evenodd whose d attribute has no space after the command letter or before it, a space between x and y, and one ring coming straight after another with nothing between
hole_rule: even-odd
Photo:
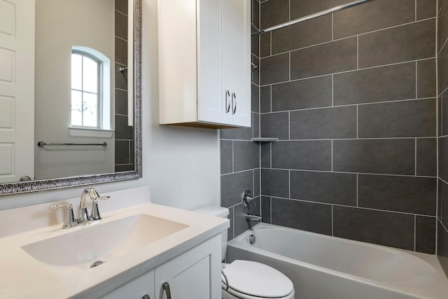
<instances>
[{"instance_id":1,"label":"white toilet between the vanity and the bathtub","mask_svg":"<svg viewBox=\"0 0 448 299\"><path fill-rule=\"evenodd\" d=\"M195 209L198 213L227 218L229 209L207 206ZM223 250L221 260L227 250L227 230L222 235ZM251 260L235 260L223 264L223 272L228 279L228 290L223 290L223 299L294 299L293 283L283 273L273 267ZM225 286L224 275L223 286Z\"/></svg>"}]
</instances>

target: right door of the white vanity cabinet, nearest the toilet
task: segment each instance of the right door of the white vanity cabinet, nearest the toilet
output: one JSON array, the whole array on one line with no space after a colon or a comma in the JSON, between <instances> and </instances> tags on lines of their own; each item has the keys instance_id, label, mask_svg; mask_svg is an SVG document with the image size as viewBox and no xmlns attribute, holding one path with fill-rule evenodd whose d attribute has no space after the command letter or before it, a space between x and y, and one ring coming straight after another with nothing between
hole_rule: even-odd
<instances>
[{"instance_id":1,"label":"right door of the white vanity cabinet, nearest the toilet","mask_svg":"<svg viewBox=\"0 0 448 299\"><path fill-rule=\"evenodd\" d=\"M190 249L155 268L156 298L172 299L221 298L221 236ZM164 288L164 284L168 286Z\"/></svg>"}]
</instances>

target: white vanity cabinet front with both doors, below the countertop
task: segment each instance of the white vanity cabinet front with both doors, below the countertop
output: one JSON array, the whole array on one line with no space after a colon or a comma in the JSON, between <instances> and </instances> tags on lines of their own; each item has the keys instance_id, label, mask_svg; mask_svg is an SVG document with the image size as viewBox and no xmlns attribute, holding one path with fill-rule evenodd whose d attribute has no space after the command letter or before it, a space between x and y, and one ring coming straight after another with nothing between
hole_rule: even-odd
<instances>
[{"instance_id":1,"label":"white vanity cabinet front with both doors, below the countertop","mask_svg":"<svg viewBox=\"0 0 448 299\"><path fill-rule=\"evenodd\" d=\"M221 235L211 237L102 298L169 299L168 288L172 299L221 299Z\"/></svg>"}]
</instances>

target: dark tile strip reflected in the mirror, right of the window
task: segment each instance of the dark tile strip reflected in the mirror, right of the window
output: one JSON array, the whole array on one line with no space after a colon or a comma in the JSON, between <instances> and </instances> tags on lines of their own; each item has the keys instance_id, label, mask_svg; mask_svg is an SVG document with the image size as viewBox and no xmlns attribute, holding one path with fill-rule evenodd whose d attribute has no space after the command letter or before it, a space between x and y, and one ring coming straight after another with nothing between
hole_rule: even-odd
<instances>
[{"instance_id":1,"label":"dark tile strip reflected in the mirror, right of the window","mask_svg":"<svg viewBox=\"0 0 448 299\"><path fill-rule=\"evenodd\" d=\"M115 1L115 171L134 170L134 130L127 125L127 0Z\"/></svg>"}]
</instances>

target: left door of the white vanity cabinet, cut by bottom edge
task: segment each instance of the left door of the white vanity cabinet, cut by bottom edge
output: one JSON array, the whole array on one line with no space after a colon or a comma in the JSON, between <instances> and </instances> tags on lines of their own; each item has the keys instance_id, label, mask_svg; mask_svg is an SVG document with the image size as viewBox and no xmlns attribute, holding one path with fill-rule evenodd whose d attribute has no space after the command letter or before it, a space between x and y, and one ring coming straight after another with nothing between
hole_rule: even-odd
<instances>
[{"instance_id":1,"label":"left door of the white vanity cabinet, cut by bottom edge","mask_svg":"<svg viewBox=\"0 0 448 299\"><path fill-rule=\"evenodd\" d=\"M154 299L154 270L132 279L115 290L102 296L101 299Z\"/></svg>"}]
</instances>

